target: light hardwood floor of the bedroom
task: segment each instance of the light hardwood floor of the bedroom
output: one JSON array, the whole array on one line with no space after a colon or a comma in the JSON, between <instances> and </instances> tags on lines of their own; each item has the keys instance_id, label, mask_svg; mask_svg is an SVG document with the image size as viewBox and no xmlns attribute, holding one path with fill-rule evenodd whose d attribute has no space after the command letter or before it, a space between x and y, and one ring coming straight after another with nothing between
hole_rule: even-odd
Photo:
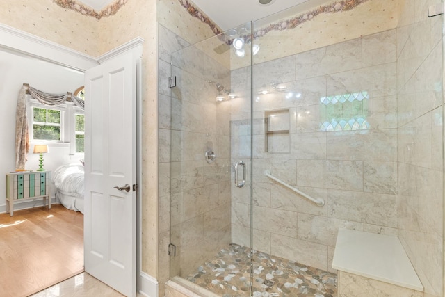
<instances>
[{"instance_id":1,"label":"light hardwood floor of the bedroom","mask_svg":"<svg viewBox=\"0 0 445 297\"><path fill-rule=\"evenodd\" d=\"M53 204L0 214L0 295L29 296L83 271L83 214Z\"/></svg>"}]
</instances>

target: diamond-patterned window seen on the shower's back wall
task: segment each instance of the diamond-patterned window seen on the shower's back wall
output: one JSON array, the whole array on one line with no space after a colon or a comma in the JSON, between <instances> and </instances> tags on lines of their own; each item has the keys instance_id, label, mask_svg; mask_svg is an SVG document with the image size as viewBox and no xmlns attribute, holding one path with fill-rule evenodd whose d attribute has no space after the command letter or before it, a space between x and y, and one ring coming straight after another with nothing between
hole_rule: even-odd
<instances>
[{"instance_id":1,"label":"diamond-patterned window seen on the shower's back wall","mask_svg":"<svg viewBox=\"0 0 445 297\"><path fill-rule=\"evenodd\" d=\"M368 130L366 91L320 98L320 131Z\"/></svg>"}]
</instances>

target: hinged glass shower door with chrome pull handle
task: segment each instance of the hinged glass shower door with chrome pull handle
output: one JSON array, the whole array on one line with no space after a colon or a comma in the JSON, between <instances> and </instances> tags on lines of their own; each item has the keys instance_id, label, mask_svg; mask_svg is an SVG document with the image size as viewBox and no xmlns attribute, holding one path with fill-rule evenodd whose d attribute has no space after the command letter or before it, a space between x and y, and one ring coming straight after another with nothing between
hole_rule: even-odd
<instances>
[{"instance_id":1,"label":"hinged glass shower door with chrome pull handle","mask_svg":"<svg viewBox=\"0 0 445 297\"><path fill-rule=\"evenodd\" d=\"M250 23L172 53L160 102L170 278L225 296L250 296L249 37Z\"/></svg>"}]
</instances>

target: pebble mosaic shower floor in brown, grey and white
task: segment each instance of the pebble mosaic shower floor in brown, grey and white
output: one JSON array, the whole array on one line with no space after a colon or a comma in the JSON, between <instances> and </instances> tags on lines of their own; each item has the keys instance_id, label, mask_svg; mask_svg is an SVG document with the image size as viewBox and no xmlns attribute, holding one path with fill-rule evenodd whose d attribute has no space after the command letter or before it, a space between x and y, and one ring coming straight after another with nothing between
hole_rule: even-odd
<instances>
[{"instance_id":1,"label":"pebble mosaic shower floor in brown, grey and white","mask_svg":"<svg viewBox=\"0 0 445 297\"><path fill-rule=\"evenodd\" d=\"M231 244L186 278L223 296L250 296L250 248ZM254 297L335 297L337 275L288 259L252 252Z\"/></svg>"}]
</instances>

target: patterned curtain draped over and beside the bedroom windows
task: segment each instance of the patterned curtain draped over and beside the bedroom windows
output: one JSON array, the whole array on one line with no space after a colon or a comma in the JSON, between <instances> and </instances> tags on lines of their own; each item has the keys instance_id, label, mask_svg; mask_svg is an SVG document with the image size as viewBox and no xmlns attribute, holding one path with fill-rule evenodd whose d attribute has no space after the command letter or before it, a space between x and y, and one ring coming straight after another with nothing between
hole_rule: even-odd
<instances>
[{"instance_id":1,"label":"patterned curtain draped over and beside the bedroom windows","mask_svg":"<svg viewBox=\"0 0 445 297\"><path fill-rule=\"evenodd\" d=\"M40 103L46 106L55 106L63 104L65 101L72 101L76 106L85 109L84 102L81 98L67 92L65 94L51 94L37 90L28 83L24 83L19 91L19 98L17 99L17 111L15 113L15 169L25 169L26 154L29 152L29 127L27 104L26 104L26 90L31 96L37 99Z\"/></svg>"}]
</instances>

